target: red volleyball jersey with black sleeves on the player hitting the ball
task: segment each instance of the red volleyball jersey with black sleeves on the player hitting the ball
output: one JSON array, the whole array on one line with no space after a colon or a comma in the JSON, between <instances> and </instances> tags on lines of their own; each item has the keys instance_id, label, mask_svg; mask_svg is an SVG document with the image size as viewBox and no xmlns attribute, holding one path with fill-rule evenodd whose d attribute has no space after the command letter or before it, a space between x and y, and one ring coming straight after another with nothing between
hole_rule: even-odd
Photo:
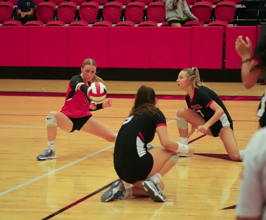
<instances>
[{"instance_id":1,"label":"red volleyball jersey with black sleeves on the player hitting the ball","mask_svg":"<svg viewBox=\"0 0 266 220\"><path fill-rule=\"evenodd\" d=\"M61 112L70 118L82 118L92 115L89 108L90 100L86 98L83 92L77 90L78 85L83 83L84 81L80 75L72 77L68 83L65 105Z\"/></svg>"}]
</instances>

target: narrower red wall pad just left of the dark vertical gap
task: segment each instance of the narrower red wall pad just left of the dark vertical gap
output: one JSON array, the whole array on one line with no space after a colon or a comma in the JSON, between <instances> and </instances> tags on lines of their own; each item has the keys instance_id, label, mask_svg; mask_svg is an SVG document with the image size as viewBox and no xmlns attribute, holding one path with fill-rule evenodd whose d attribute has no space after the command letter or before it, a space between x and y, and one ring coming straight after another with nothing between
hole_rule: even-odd
<instances>
[{"instance_id":1,"label":"narrower red wall pad just left of the dark vertical gap","mask_svg":"<svg viewBox=\"0 0 266 220\"><path fill-rule=\"evenodd\" d=\"M192 27L191 66L222 69L223 27Z\"/></svg>"}]
</instances>

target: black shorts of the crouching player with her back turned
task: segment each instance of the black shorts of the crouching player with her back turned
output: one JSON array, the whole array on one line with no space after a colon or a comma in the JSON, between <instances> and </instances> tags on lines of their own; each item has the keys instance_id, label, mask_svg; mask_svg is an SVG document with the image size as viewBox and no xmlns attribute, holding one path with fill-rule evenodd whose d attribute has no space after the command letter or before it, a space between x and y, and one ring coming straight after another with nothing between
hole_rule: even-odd
<instances>
[{"instance_id":1,"label":"black shorts of the crouching player with her back turned","mask_svg":"<svg viewBox=\"0 0 266 220\"><path fill-rule=\"evenodd\" d=\"M119 164L115 167L117 175L123 181L133 184L137 181L147 179L153 167L153 157L149 152L147 152L134 162L122 162L121 164L123 165Z\"/></svg>"}]
</instances>

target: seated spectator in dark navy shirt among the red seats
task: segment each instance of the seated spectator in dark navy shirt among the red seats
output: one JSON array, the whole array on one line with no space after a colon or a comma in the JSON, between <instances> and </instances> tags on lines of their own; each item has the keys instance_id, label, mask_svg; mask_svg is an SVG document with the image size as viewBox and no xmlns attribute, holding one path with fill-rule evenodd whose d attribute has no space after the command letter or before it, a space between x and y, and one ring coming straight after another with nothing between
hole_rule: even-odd
<instances>
[{"instance_id":1,"label":"seated spectator in dark navy shirt among the red seats","mask_svg":"<svg viewBox=\"0 0 266 220\"><path fill-rule=\"evenodd\" d=\"M36 21L37 18L33 14L35 8L33 0L18 0L18 15L15 17L15 21L21 21L25 24L28 21Z\"/></svg>"}]
</instances>

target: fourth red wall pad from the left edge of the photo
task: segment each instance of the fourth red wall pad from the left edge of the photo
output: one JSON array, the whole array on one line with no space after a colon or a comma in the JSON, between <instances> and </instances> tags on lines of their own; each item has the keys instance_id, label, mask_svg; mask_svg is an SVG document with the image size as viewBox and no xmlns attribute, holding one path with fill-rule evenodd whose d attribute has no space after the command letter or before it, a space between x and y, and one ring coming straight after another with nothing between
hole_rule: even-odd
<instances>
[{"instance_id":1,"label":"fourth red wall pad from the left edge of the photo","mask_svg":"<svg viewBox=\"0 0 266 220\"><path fill-rule=\"evenodd\" d=\"M109 27L108 67L149 68L149 29Z\"/></svg>"}]
</instances>

